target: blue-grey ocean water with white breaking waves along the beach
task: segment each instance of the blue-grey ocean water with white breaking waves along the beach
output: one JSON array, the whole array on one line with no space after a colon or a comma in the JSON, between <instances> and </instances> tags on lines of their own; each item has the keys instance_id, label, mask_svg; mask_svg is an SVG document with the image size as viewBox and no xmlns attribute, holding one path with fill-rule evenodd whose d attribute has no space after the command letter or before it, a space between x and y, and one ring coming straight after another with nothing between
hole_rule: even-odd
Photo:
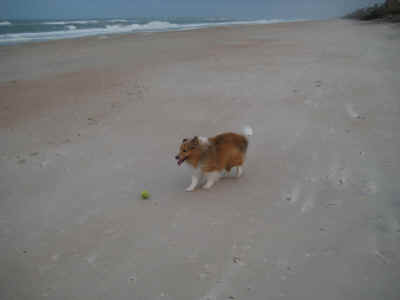
<instances>
[{"instance_id":1,"label":"blue-grey ocean water with white breaking waves along the beach","mask_svg":"<svg viewBox=\"0 0 400 300\"><path fill-rule=\"evenodd\" d=\"M120 18L88 20L0 20L0 45L114 33L193 30L239 24L271 24L295 20L229 18Z\"/></svg>"}]
</instances>

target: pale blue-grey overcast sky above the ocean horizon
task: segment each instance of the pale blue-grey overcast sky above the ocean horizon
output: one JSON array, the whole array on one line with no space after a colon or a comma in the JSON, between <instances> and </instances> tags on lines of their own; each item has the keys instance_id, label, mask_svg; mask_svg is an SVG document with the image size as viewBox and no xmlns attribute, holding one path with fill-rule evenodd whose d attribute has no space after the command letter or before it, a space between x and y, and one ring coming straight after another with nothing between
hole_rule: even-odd
<instances>
[{"instance_id":1,"label":"pale blue-grey overcast sky above the ocean horizon","mask_svg":"<svg viewBox=\"0 0 400 300\"><path fill-rule=\"evenodd\" d=\"M0 0L0 19L329 18L383 0Z\"/></svg>"}]
</instances>

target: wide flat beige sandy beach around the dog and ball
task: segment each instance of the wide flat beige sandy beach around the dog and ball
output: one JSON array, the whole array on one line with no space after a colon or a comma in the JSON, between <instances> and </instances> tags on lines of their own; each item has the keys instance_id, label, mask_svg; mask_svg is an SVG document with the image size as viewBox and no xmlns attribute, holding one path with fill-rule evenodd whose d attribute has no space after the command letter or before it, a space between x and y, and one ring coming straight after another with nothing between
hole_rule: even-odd
<instances>
[{"instance_id":1,"label":"wide flat beige sandy beach around the dog and ball","mask_svg":"<svg viewBox=\"0 0 400 300\"><path fill-rule=\"evenodd\" d=\"M399 53L345 20L1 46L0 298L399 299ZM185 192L182 138L246 124L243 177Z\"/></svg>"}]
</instances>

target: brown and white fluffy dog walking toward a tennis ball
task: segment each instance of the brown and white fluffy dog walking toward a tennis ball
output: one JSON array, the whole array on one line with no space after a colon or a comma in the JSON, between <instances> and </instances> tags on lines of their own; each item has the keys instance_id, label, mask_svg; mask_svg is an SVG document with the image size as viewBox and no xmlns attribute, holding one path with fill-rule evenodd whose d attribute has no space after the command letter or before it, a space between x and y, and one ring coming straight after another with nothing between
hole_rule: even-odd
<instances>
[{"instance_id":1,"label":"brown and white fluffy dog walking toward a tennis ball","mask_svg":"<svg viewBox=\"0 0 400 300\"><path fill-rule=\"evenodd\" d=\"M214 137L197 137L183 139L179 154L175 157L178 165L186 162L193 169L192 183L186 191L193 191L203 175L206 177L205 189L211 188L223 175L236 167L236 177L243 173L243 163L246 157L248 138L253 135L253 129L246 126L243 134L222 133Z\"/></svg>"}]
</instances>

